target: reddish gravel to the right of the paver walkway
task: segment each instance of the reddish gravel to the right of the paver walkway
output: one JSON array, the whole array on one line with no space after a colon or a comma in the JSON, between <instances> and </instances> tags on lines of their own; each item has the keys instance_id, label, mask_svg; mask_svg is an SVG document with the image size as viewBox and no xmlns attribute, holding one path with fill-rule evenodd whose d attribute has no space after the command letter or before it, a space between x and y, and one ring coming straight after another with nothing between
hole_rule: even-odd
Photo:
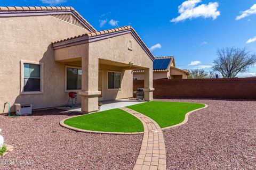
<instances>
[{"instance_id":1,"label":"reddish gravel to the right of the paver walkway","mask_svg":"<svg viewBox=\"0 0 256 170\"><path fill-rule=\"evenodd\" d=\"M163 131L167 169L256 169L256 101L161 101L208 105Z\"/></svg>"}]
</instances>

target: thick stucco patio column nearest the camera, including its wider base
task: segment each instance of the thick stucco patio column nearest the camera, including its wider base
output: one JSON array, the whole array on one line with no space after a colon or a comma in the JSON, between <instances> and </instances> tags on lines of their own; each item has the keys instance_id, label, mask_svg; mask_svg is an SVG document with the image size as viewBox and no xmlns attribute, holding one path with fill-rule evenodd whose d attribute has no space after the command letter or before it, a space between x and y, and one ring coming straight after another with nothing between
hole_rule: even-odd
<instances>
[{"instance_id":1,"label":"thick stucco patio column nearest the camera, including its wider base","mask_svg":"<svg viewBox=\"0 0 256 170\"><path fill-rule=\"evenodd\" d=\"M82 57L82 91L79 92L82 99L81 110L87 114L98 111L98 73L99 59L90 56L89 52Z\"/></svg>"}]
</instances>

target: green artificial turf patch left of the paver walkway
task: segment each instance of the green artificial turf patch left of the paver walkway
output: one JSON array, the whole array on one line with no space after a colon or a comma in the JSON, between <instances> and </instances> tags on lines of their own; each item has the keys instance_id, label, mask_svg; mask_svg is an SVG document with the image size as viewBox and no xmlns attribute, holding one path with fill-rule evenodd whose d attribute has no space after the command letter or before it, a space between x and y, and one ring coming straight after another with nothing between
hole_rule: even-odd
<instances>
[{"instance_id":1,"label":"green artificial turf patch left of the paver walkway","mask_svg":"<svg viewBox=\"0 0 256 170\"><path fill-rule=\"evenodd\" d=\"M143 132L143 125L138 118L121 109L73 117L64 123L78 129L91 131Z\"/></svg>"}]
</instances>

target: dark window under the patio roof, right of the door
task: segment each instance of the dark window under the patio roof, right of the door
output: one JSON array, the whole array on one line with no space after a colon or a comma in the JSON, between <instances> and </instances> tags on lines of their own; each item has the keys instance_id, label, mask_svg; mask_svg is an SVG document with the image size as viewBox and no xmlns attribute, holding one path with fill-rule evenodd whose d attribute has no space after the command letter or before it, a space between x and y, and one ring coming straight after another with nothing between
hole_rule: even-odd
<instances>
[{"instance_id":1,"label":"dark window under the patio roof, right of the door","mask_svg":"<svg viewBox=\"0 0 256 170\"><path fill-rule=\"evenodd\" d=\"M121 88L121 73L108 72L108 89L120 89L120 88Z\"/></svg>"}]
</instances>

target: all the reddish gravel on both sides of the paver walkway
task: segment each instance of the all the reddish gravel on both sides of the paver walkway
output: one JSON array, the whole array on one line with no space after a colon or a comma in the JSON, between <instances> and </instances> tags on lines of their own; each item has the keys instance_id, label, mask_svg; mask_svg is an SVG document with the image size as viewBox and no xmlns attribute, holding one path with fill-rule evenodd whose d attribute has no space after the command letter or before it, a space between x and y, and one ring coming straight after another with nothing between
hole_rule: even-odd
<instances>
[{"instance_id":1,"label":"all the reddish gravel on both sides of the paver walkway","mask_svg":"<svg viewBox=\"0 0 256 170\"><path fill-rule=\"evenodd\" d=\"M256 101L159 99L203 103L185 125L164 130L167 169L256 169ZM0 169L132 169L142 134L91 134L59 126L75 113L0 115L5 142L14 150L1 160L34 160ZM1 163L1 162L0 162Z\"/></svg>"}]
</instances>

